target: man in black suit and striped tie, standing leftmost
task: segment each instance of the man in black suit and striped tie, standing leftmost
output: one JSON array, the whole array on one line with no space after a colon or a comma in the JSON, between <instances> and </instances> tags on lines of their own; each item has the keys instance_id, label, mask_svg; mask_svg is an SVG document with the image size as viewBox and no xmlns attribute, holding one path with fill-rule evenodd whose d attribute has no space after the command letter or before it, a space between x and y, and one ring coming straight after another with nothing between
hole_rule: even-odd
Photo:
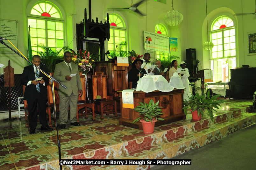
<instances>
[{"instance_id":1,"label":"man in black suit and striped tie, standing leftmost","mask_svg":"<svg viewBox=\"0 0 256 170\"><path fill-rule=\"evenodd\" d=\"M39 67L41 70L48 74L48 70L45 67L40 67L41 59L39 55L34 55L32 63ZM35 81L36 78L42 77L42 80ZM46 96L47 85L49 84L48 77L40 72L33 65L24 67L22 73L21 83L26 86L24 92L24 100L28 104L28 120L30 131L29 134L34 134L37 126L37 110L39 113L39 120L42 124L41 131L51 131L53 129L48 127L46 121Z\"/></svg>"}]
</instances>

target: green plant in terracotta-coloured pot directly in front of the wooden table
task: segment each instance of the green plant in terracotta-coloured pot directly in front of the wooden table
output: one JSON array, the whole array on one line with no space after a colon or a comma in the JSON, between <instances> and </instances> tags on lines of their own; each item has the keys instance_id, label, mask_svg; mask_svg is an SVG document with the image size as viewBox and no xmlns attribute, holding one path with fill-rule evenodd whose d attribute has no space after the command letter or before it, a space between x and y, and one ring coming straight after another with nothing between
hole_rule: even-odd
<instances>
[{"instance_id":1,"label":"green plant in terracotta-coloured pot directly in front of the wooden table","mask_svg":"<svg viewBox=\"0 0 256 170\"><path fill-rule=\"evenodd\" d=\"M163 115L162 107L158 106L158 102L154 103L153 99L150 99L149 103L142 103L139 102L139 106L134 108L133 110L139 112L139 115L143 115L143 117L138 117L132 123L137 123L138 121L141 122L143 132L146 134L151 134L154 132L155 122L157 120L164 120L163 118L159 117Z\"/></svg>"}]
</instances>

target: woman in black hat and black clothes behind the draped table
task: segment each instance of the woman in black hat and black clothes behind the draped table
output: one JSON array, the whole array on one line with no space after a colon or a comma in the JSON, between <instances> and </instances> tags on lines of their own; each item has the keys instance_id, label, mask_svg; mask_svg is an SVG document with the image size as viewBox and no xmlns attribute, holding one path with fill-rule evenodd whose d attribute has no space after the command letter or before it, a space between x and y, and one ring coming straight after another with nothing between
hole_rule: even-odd
<instances>
[{"instance_id":1,"label":"woman in black hat and black clothes behind the draped table","mask_svg":"<svg viewBox=\"0 0 256 170\"><path fill-rule=\"evenodd\" d=\"M140 59L135 59L132 63L132 69L129 72L129 79L132 81L132 89L136 89L139 78L143 77L144 74L147 74L146 70L141 68L142 63L143 60Z\"/></svg>"}]
</instances>

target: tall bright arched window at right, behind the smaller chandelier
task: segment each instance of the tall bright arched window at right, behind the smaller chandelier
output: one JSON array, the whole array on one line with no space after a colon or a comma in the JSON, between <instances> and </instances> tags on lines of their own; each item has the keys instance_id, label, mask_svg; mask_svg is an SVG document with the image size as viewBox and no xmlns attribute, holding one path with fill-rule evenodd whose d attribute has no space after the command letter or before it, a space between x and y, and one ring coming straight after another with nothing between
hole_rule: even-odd
<instances>
[{"instance_id":1,"label":"tall bright arched window at right, behind the smaller chandelier","mask_svg":"<svg viewBox=\"0 0 256 170\"><path fill-rule=\"evenodd\" d=\"M211 25L211 50L214 81L228 82L230 69L236 67L236 28L228 16L215 19Z\"/></svg>"}]
</instances>

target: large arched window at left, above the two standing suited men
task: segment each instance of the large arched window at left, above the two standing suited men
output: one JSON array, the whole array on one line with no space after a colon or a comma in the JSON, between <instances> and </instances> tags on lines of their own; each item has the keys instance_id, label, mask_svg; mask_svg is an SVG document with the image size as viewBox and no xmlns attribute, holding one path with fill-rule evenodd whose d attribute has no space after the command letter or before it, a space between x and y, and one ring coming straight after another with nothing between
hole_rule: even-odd
<instances>
[{"instance_id":1,"label":"large arched window at left, above the two standing suited men","mask_svg":"<svg viewBox=\"0 0 256 170\"><path fill-rule=\"evenodd\" d=\"M52 50L64 46L64 21L57 6L40 1L35 4L28 16L32 50L40 51L36 45L43 44Z\"/></svg>"}]
</instances>

